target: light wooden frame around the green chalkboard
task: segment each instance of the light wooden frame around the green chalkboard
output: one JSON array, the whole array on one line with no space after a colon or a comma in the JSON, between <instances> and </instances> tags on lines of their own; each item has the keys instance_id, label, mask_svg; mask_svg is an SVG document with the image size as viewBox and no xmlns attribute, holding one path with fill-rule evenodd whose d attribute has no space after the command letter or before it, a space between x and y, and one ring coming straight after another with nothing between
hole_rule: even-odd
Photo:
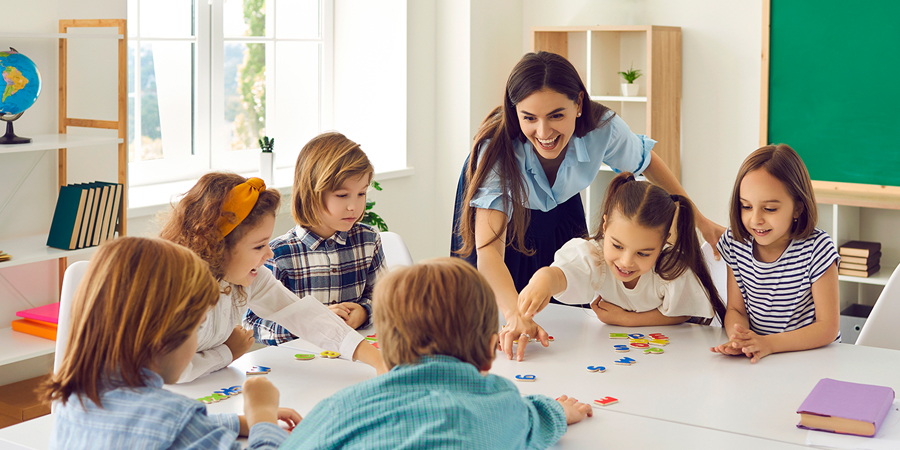
<instances>
[{"instance_id":1,"label":"light wooden frame around the green chalkboard","mask_svg":"<svg viewBox=\"0 0 900 450\"><path fill-rule=\"evenodd\" d=\"M759 145L769 144L769 52L771 38L771 1L763 0L762 7L762 77L760 90ZM867 208L900 209L900 186L843 183L812 180L818 203L862 206Z\"/></svg>"}]
</instances>

